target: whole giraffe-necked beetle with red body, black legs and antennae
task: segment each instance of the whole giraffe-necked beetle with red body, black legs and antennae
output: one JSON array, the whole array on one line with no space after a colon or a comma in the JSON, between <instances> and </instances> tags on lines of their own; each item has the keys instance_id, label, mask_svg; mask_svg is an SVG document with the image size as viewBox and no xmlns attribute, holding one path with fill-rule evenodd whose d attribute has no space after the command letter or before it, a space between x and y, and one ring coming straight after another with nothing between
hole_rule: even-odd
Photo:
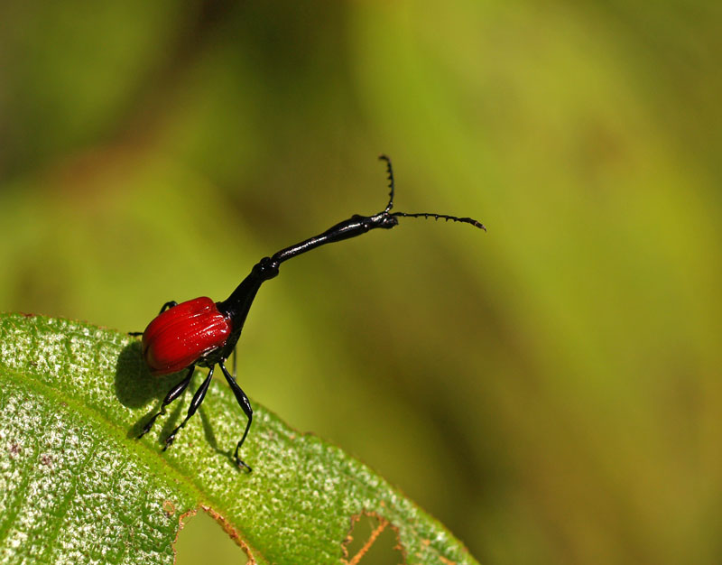
<instances>
[{"instance_id":1,"label":"whole giraffe-necked beetle with red body, black legs and antennae","mask_svg":"<svg viewBox=\"0 0 722 565\"><path fill-rule=\"evenodd\" d=\"M169 375L185 370L185 376L166 394L161 409L145 423L143 431L137 436L138 439L151 431L156 419L165 414L166 406L185 392L196 367L207 367L208 375L200 384L196 393L193 394L185 419L165 439L163 451L171 447L178 431L185 427L190 417L198 410L200 403L203 402L210 381L213 378L213 372L218 366L226 377L233 394L236 395L237 403L241 406L248 419L243 436L236 444L234 458L238 468L251 472L252 469L240 458L238 453L248 435L248 431L251 429L254 411L248 397L236 383L235 375L228 372L226 360L236 348L238 338L241 337L241 330L244 327L245 318L255 299L256 292L264 282L278 275L279 266L284 261L315 249L319 245L360 236L376 228L391 229L398 225L398 218L452 220L470 224L486 231L486 227L473 218L458 218L456 216L425 212L414 214L392 212L394 184L391 159L386 155L380 155L379 159L386 162L388 188L390 189L389 201L384 210L374 216L359 216L356 214L329 227L318 236L285 247L270 257L264 257L254 265L251 273L245 277L225 301L214 302L203 296L180 304L176 301L163 304L158 316L142 332L143 358L152 375ZM132 335L140 335L140 332L132 332Z\"/></svg>"}]
</instances>

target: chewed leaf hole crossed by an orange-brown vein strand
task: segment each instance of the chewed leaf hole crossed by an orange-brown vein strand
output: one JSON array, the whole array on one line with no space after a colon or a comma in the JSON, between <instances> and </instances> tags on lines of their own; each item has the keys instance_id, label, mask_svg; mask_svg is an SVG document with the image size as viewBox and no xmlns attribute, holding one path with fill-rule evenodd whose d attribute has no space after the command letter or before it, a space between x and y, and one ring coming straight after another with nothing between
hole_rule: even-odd
<instances>
[{"instance_id":1,"label":"chewed leaf hole crossed by an orange-brown vein strand","mask_svg":"<svg viewBox=\"0 0 722 565\"><path fill-rule=\"evenodd\" d=\"M405 562L396 528L371 513L351 518L351 531L343 545L345 565L401 565Z\"/></svg>"}]
</instances>

